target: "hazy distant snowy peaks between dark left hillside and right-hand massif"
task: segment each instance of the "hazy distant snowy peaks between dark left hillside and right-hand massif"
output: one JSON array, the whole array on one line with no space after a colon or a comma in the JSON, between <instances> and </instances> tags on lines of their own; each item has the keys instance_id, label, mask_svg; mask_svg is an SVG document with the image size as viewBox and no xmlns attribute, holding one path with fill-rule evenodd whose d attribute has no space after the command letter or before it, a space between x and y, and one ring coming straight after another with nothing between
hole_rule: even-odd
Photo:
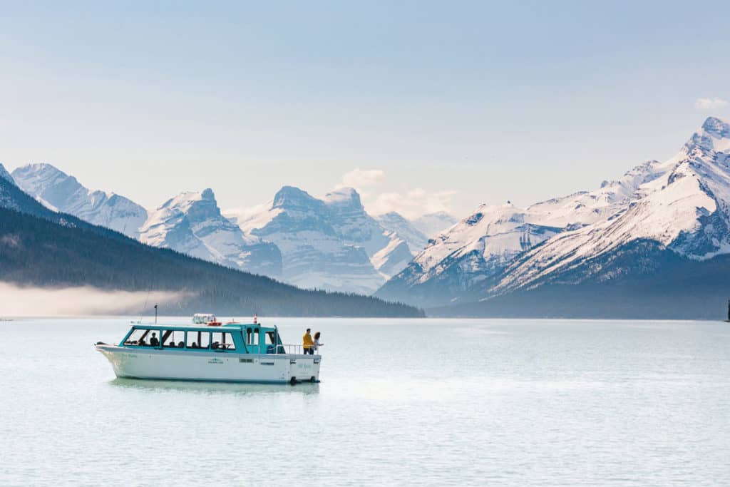
<instances>
[{"instance_id":1,"label":"hazy distant snowy peaks between dark left hillside and right-hand massif","mask_svg":"<svg viewBox=\"0 0 730 487\"><path fill-rule=\"evenodd\" d=\"M221 212L213 191L185 192L156 210L115 193L92 191L50 164L12 172L47 208L105 226L148 245L304 288L372 294L426 245L426 235L456 223L441 212L407 221L372 218L353 188L316 199L285 186L274 199Z\"/></svg>"}]
</instances>

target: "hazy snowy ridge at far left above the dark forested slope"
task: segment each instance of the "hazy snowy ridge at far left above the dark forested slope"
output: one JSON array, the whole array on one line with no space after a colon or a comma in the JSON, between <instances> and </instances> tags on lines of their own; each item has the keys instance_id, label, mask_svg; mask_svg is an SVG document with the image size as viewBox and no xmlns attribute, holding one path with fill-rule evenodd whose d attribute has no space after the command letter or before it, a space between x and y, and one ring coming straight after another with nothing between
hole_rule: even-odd
<instances>
[{"instance_id":1,"label":"hazy snowy ridge at far left above the dark forested slope","mask_svg":"<svg viewBox=\"0 0 730 487\"><path fill-rule=\"evenodd\" d=\"M28 164L12 172L15 183L51 210L138 237L147 210L115 193L91 191L50 164Z\"/></svg>"}]
</instances>

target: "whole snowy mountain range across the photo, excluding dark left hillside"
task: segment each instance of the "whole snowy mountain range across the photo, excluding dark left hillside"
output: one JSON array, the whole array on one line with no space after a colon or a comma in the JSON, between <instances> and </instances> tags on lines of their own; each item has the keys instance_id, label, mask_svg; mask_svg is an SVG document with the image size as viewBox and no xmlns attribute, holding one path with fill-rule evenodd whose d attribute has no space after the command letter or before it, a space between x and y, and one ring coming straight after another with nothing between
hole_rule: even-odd
<instances>
[{"instance_id":1,"label":"whole snowy mountain range across the photo, excluding dark left hillside","mask_svg":"<svg viewBox=\"0 0 730 487\"><path fill-rule=\"evenodd\" d=\"M525 208L483 204L461 221L373 217L352 188L315 198L285 186L228 211L206 189L148 211L48 164L0 166L9 180L46 211L155 247L431 315L717 318L730 295L730 124L714 117L668 161ZM0 206L17 210L8 194Z\"/></svg>"}]
</instances>

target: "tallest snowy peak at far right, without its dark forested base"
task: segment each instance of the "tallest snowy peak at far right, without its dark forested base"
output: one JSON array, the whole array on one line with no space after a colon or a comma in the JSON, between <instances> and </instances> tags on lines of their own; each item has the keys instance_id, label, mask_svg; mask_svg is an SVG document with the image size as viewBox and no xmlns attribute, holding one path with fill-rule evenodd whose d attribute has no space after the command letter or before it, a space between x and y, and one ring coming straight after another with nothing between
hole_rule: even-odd
<instances>
[{"instance_id":1,"label":"tallest snowy peak at far right, without its dark forested base","mask_svg":"<svg viewBox=\"0 0 730 487\"><path fill-rule=\"evenodd\" d=\"M607 274L591 263L642 240L694 261L730 253L729 123L708 118L677 156L642 169L651 177L638 185L637 199L615 218L566 232L532 250L494 291L561 282L566 275L569 283L615 279L631 269Z\"/></svg>"}]
</instances>

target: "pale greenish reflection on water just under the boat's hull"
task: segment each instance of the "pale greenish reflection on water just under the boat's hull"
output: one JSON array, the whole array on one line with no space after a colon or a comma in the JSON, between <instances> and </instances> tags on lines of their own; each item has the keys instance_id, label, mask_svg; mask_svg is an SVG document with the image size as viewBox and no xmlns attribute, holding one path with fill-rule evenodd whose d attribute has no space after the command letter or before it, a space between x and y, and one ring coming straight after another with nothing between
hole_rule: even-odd
<instances>
[{"instance_id":1,"label":"pale greenish reflection on water just under the boat's hull","mask_svg":"<svg viewBox=\"0 0 730 487\"><path fill-rule=\"evenodd\" d=\"M117 377L110 380L114 387L131 388L144 391L177 391L196 394L232 394L246 396L251 394L318 394L319 383L289 384L256 384L256 383L224 383L196 382L187 380L150 380L126 379Z\"/></svg>"}]
</instances>

